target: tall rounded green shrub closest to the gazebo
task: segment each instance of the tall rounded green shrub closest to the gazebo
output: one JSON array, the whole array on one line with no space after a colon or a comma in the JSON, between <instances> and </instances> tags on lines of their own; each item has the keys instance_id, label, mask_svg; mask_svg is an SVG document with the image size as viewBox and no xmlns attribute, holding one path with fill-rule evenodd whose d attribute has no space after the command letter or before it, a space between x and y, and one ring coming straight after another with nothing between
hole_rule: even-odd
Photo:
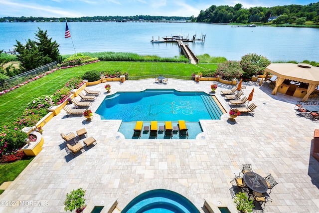
<instances>
[{"instance_id":1,"label":"tall rounded green shrub closest to the gazebo","mask_svg":"<svg viewBox=\"0 0 319 213\"><path fill-rule=\"evenodd\" d=\"M241 57L240 65L247 78L253 75L262 74L266 67L270 64L268 58L257 55L256 53L249 53Z\"/></svg>"}]
</instances>

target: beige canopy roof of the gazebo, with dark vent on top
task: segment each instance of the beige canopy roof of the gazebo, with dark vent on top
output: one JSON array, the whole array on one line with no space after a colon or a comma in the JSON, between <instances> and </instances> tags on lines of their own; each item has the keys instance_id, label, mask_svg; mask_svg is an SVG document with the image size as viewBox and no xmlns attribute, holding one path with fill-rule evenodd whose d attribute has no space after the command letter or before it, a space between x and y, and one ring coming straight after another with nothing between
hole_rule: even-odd
<instances>
[{"instance_id":1,"label":"beige canopy roof of the gazebo, with dark vent on top","mask_svg":"<svg viewBox=\"0 0 319 213\"><path fill-rule=\"evenodd\" d=\"M319 84L319 67L310 64L271 63L266 67L266 71L277 75L279 78Z\"/></svg>"}]
</instances>

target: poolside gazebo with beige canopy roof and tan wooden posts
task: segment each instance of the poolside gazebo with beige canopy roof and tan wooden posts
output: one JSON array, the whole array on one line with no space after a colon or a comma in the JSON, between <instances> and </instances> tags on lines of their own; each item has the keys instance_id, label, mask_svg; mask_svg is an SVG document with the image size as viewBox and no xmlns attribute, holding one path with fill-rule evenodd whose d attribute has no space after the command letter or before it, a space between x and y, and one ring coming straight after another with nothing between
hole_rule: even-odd
<instances>
[{"instance_id":1,"label":"poolside gazebo with beige canopy roof and tan wooden posts","mask_svg":"<svg viewBox=\"0 0 319 213\"><path fill-rule=\"evenodd\" d=\"M272 73L278 76L275 88L271 93L272 95L277 94L278 87L282 85L285 79L303 82L309 84L307 94L302 100L305 102L309 98L309 95L314 92L316 87L319 85L319 67L312 66L310 64L271 63L265 69L263 78L259 83L260 86L267 73Z\"/></svg>"}]
</instances>

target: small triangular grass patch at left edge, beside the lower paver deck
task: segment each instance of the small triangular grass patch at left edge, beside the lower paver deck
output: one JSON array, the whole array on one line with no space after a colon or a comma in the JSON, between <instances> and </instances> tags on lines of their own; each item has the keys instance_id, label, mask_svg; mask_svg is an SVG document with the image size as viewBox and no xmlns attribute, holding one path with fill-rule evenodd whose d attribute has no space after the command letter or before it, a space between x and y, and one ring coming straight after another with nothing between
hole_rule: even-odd
<instances>
[{"instance_id":1,"label":"small triangular grass patch at left edge, beside the lower paver deck","mask_svg":"<svg viewBox=\"0 0 319 213\"><path fill-rule=\"evenodd\" d=\"M9 164L0 165L0 185L6 181L13 181L23 170L24 168L32 161L34 157L15 161Z\"/></svg>"}]
</instances>

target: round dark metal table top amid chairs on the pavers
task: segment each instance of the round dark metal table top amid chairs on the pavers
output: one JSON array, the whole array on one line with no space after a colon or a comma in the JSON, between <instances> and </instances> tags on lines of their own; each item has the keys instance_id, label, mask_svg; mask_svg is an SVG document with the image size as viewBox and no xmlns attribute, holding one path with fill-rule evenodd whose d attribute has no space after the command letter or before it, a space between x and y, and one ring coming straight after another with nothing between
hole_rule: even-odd
<instances>
[{"instance_id":1,"label":"round dark metal table top amid chairs on the pavers","mask_svg":"<svg viewBox=\"0 0 319 213\"><path fill-rule=\"evenodd\" d=\"M246 172L244 174L244 181L247 187L258 193L265 193L268 190L268 185L266 180L254 172Z\"/></svg>"}]
</instances>

